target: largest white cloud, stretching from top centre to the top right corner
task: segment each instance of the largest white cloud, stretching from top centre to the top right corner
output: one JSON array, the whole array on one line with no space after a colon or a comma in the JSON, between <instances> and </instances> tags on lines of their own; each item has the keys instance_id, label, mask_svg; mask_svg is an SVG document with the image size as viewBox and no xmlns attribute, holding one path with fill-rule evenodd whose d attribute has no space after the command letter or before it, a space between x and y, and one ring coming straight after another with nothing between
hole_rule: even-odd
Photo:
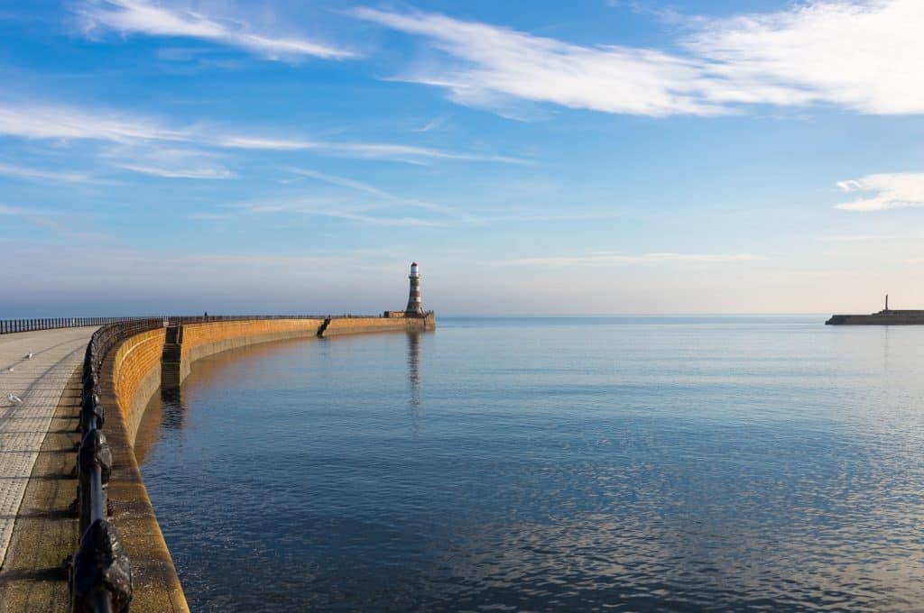
<instances>
[{"instance_id":1,"label":"largest white cloud, stretching from top centre to the top right corner","mask_svg":"<svg viewBox=\"0 0 924 613\"><path fill-rule=\"evenodd\" d=\"M919 0L829 0L733 19L698 18L684 54L584 46L425 12L358 8L447 56L397 78L506 114L517 101L604 113L727 114L743 105L827 102L861 113L924 113ZM845 69L849 66L849 69Z\"/></svg>"}]
</instances>

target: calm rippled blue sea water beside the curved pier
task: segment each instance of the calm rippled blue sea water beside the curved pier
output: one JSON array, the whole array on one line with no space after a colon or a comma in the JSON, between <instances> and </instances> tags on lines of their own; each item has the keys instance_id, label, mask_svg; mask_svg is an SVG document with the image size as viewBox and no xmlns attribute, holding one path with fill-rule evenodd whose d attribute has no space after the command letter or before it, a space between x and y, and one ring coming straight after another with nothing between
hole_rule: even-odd
<instances>
[{"instance_id":1,"label":"calm rippled blue sea water beside the curved pier","mask_svg":"<svg viewBox=\"0 0 924 613\"><path fill-rule=\"evenodd\" d=\"M924 609L924 327L822 321L252 347L141 469L197 611Z\"/></svg>"}]
</instances>

